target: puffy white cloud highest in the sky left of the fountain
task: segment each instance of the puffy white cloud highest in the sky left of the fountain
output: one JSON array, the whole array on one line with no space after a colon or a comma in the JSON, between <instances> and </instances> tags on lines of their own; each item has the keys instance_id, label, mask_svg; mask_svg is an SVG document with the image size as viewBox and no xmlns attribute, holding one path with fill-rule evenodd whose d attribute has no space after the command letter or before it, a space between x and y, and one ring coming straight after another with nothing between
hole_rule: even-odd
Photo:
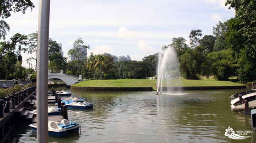
<instances>
[{"instance_id":1,"label":"puffy white cloud highest in the sky left of the fountain","mask_svg":"<svg viewBox=\"0 0 256 143\"><path fill-rule=\"evenodd\" d=\"M117 36L125 39L134 39L141 36L141 33L128 31L125 27L120 27L117 31Z\"/></svg>"}]
</instances>

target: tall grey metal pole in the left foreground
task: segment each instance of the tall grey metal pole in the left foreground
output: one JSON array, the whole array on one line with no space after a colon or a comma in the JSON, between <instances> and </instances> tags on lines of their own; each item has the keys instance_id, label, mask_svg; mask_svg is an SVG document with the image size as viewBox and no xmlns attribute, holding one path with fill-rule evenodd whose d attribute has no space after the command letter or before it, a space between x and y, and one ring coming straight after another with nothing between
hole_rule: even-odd
<instances>
[{"instance_id":1,"label":"tall grey metal pole in the left foreground","mask_svg":"<svg viewBox=\"0 0 256 143\"><path fill-rule=\"evenodd\" d=\"M49 19L50 0L40 0L37 36L37 143L48 143Z\"/></svg>"}]
</instances>

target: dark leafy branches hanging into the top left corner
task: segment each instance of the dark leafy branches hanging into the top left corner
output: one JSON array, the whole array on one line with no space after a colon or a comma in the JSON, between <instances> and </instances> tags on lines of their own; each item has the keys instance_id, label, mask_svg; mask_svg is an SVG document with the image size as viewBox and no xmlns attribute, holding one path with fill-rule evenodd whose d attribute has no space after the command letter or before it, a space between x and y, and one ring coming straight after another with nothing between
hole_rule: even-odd
<instances>
[{"instance_id":1,"label":"dark leafy branches hanging into the top left corner","mask_svg":"<svg viewBox=\"0 0 256 143\"><path fill-rule=\"evenodd\" d=\"M21 11L25 14L25 11L30 8L31 10L35 6L31 2L31 0L1 0L0 1L0 17L2 19L9 18L11 16L11 12L19 12ZM0 39L3 38L5 40L5 36L7 35L6 31L10 30L10 26L4 20L0 20Z\"/></svg>"}]
</instances>

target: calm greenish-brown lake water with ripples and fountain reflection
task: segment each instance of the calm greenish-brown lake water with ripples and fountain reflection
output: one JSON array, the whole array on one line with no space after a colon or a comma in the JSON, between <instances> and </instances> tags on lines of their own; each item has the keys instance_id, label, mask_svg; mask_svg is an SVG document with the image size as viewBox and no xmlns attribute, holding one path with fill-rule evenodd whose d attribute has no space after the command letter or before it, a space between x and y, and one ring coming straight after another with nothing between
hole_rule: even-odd
<instances>
[{"instance_id":1,"label":"calm greenish-brown lake water with ripples and fountain reflection","mask_svg":"<svg viewBox=\"0 0 256 143\"><path fill-rule=\"evenodd\" d=\"M62 88L55 88L63 90ZM64 88L64 90L66 90ZM237 90L238 92L245 89ZM255 143L256 135L235 140L224 135L251 130L250 115L232 112L228 97L235 90L155 92L72 92L95 104L91 110L68 110L69 120L80 123L80 133L51 143ZM8 143L36 143L36 133L19 125Z\"/></svg>"}]
</instances>

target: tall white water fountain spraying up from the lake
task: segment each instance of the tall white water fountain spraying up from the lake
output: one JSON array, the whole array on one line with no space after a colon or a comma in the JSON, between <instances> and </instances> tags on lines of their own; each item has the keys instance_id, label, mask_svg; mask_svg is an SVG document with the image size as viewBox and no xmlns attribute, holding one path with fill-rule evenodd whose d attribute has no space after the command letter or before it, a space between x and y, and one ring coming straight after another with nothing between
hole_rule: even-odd
<instances>
[{"instance_id":1,"label":"tall white water fountain spraying up from the lake","mask_svg":"<svg viewBox=\"0 0 256 143\"><path fill-rule=\"evenodd\" d=\"M165 82L165 91L167 93L172 92L173 79L179 76L179 62L177 59L176 51L173 47L168 46L167 49L160 47L157 66L157 92L162 93L163 82Z\"/></svg>"}]
</instances>

